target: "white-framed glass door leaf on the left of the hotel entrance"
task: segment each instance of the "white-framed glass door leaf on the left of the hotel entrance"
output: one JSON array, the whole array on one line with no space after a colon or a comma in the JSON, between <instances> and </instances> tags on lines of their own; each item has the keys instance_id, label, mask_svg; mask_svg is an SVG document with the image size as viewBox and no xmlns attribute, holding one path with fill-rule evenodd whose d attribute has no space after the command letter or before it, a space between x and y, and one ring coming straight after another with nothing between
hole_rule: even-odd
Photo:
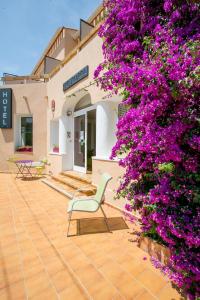
<instances>
[{"instance_id":1,"label":"white-framed glass door leaf on the left of the hotel entrance","mask_svg":"<svg viewBox=\"0 0 200 300\"><path fill-rule=\"evenodd\" d=\"M74 170L86 172L86 114L74 118Z\"/></svg>"}]
</instances>

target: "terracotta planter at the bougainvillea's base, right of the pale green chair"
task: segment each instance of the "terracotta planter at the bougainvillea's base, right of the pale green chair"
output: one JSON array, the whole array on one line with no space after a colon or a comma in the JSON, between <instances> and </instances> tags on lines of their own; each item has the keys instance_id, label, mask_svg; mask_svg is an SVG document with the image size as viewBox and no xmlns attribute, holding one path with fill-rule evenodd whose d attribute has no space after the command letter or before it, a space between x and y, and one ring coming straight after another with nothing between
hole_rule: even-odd
<instances>
[{"instance_id":1,"label":"terracotta planter at the bougainvillea's base, right of the pale green chair","mask_svg":"<svg viewBox=\"0 0 200 300\"><path fill-rule=\"evenodd\" d=\"M166 246L158 244L149 237L141 236L138 241L138 247L147 252L150 256L167 265L170 257L170 250Z\"/></svg>"}]
</instances>

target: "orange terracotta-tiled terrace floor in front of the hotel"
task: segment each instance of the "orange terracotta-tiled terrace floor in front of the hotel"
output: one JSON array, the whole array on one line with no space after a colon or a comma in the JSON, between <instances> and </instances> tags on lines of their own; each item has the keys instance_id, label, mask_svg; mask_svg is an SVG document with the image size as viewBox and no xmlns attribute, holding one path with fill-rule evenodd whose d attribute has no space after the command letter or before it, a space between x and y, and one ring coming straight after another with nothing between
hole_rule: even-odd
<instances>
[{"instance_id":1,"label":"orange terracotta-tiled terrace floor in front of the hotel","mask_svg":"<svg viewBox=\"0 0 200 300\"><path fill-rule=\"evenodd\" d=\"M97 233L105 231L97 213L67 238L67 201L39 180L0 174L1 300L180 299L130 241L133 225L120 212L105 207L113 233Z\"/></svg>"}]
</instances>

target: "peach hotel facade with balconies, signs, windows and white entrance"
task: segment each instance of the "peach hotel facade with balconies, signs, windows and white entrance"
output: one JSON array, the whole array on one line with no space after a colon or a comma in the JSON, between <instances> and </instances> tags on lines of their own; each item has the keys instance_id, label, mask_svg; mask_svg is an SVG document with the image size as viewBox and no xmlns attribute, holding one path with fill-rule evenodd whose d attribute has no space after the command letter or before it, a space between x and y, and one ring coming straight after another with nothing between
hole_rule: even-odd
<instances>
[{"instance_id":1,"label":"peach hotel facade with balconies, signs, windows and white entrance","mask_svg":"<svg viewBox=\"0 0 200 300\"><path fill-rule=\"evenodd\" d=\"M29 76L4 74L0 86L0 171L11 156L48 159L47 172L103 172L113 176L110 195L123 170L109 159L116 142L120 96L109 97L94 82L103 61L98 29L102 6L80 30L59 28ZM4 96L8 95L6 101ZM3 103L6 102L6 108Z\"/></svg>"}]
</instances>

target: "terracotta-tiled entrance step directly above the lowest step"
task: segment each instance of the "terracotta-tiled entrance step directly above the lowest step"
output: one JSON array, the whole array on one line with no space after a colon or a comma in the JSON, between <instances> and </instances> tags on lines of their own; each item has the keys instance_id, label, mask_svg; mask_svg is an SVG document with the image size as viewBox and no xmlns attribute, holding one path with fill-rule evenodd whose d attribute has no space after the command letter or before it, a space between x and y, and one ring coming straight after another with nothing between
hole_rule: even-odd
<instances>
[{"instance_id":1,"label":"terracotta-tiled entrance step directly above the lowest step","mask_svg":"<svg viewBox=\"0 0 200 300\"><path fill-rule=\"evenodd\" d=\"M80 192L87 196L95 195L96 193L95 186L91 184L85 184L84 182L79 181L77 179L68 178L61 174L57 176L52 176L52 179L56 182L59 182L63 185L66 185L67 187L74 189L74 192L80 189Z\"/></svg>"}]
</instances>

